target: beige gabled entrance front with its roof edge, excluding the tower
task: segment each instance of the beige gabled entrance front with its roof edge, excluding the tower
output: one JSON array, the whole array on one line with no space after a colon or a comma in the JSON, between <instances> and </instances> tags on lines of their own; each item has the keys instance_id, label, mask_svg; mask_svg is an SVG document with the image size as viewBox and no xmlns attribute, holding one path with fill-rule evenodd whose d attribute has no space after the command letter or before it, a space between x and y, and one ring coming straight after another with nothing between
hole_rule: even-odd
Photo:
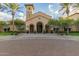
<instances>
[{"instance_id":1,"label":"beige gabled entrance front with its roof edge, excluding the tower","mask_svg":"<svg viewBox=\"0 0 79 59\"><path fill-rule=\"evenodd\" d=\"M26 30L30 31L30 25L34 26L34 31L37 32L37 24L40 22L42 24L42 31L45 30L45 26L48 24L48 21L51 19L51 16L48 16L42 12L35 13L31 18L26 20Z\"/></svg>"}]
</instances>

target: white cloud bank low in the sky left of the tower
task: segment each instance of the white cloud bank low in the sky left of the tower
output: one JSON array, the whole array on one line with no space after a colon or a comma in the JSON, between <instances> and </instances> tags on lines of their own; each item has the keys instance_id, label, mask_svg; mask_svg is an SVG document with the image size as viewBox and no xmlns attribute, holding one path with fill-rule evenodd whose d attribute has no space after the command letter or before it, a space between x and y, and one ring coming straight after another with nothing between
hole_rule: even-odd
<instances>
[{"instance_id":1,"label":"white cloud bank low in the sky left of the tower","mask_svg":"<svg viewBox=\"0 0 79 59\"><path fill-rule=\"evenodd\" d=\"M26 15L24 13L22 13L22 12L19 12L18 16L15 16L15 19L16 18L25 21ZM4 13L4 12L0 12L0 21L8 21L8 20L11 20L11 19L12 19L12 16L10 14Z\"/></svg>"}]
</instances>

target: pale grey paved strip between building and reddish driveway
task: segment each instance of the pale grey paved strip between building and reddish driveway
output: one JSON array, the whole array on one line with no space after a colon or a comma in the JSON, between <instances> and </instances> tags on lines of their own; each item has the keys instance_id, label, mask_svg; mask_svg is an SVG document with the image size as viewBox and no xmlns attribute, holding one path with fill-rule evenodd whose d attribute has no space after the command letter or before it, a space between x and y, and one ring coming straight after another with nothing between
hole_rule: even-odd
<instances>
[{"instance_id":1,"label":"pale grey paved strip between building and reddish driveway","mask_svg":"<svg viewBox=\"0 0 79 59\"><path fill-rule=\"evenodd\" d=\"M67 35L57 35L57 34L26 34L22 33L13 36L0 36L0 40L28 40L28 39L59 39L59 40L75 40L79 41L79 36L67 36Z\"/></svg>"}]
</instances>

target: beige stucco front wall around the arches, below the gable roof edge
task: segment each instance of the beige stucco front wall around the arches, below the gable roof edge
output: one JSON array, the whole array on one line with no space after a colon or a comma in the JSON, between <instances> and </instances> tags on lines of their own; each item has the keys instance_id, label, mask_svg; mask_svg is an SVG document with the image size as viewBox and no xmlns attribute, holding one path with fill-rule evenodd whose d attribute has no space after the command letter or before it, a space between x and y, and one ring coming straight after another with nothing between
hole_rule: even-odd
<instances>
[{"instance_id":1,"label":"beige stucco front wall around the arches, below the gable roof edge","mask_svg":"<svg viewBox=\"0 0 79 59\"><path fill-rule=\"evenodd\" d=\"M30 24L34 25L34 30L37 31L36 25L38 22L42 22L43 24L43 30L45 30L45 25L48 23L50 19L47 19L45 17L42 16L38 16L36 18L30 19L28 21L26 21L26 30L30 30Z\"/></svg>"}]
</instances>

